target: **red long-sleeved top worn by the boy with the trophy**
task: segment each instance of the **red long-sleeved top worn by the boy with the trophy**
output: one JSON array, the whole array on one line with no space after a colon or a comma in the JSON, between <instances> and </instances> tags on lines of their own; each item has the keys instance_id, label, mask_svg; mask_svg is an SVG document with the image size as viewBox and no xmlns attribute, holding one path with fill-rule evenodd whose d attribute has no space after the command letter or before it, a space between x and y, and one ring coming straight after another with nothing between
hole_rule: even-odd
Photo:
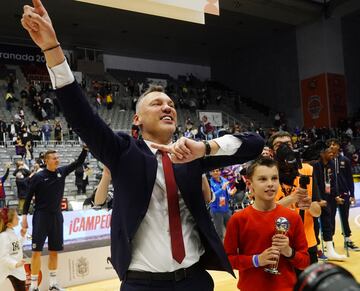
<instances>
[{"instance_id":1,"label":"red long-sleeved top worn by the boy with the trophy","mask_svg":"<svg viewBox=\"0 0 360 291\"><path fill-rule=\"evenodd\" d=\"M281 275L272 275L265 272L264 267L255 268L252 256L271 246L275 221L279 217L285 217L290 223L287 236L295 256L292 259L280 256L278 270ZM301 218L281 205L271 211L258 211L250 206L234 214L226 227L224 246L232 267L239 270L237 287L241 291L292 291L296 283L294 268L304 269L309 265Z\"/></svg>"}]
</instances>

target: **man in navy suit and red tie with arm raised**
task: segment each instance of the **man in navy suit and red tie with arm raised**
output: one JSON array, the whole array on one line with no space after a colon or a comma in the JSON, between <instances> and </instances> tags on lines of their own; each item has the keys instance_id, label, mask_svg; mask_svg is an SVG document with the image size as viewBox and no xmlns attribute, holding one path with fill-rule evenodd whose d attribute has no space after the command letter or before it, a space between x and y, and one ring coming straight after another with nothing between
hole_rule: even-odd
<instances>
[{"instance_id":1,"label":"man in navy suit and red tie with arm raised","mask_svg":"<svg viewBox=\"0 0 360 291\"><path fill-rule=\"evenodd\" d=\"M213 290L205 269L233 271L206 210L201 177L256 158L263 139L243 133L171 143L177 113L160 87L151 87L136 105L134 123L143 139L114 133L74 81L41 1L33 5L24 6L22 25L45 54L66 119L111 171L111 262L121 290Z\"/></svg>"}]
</instances>

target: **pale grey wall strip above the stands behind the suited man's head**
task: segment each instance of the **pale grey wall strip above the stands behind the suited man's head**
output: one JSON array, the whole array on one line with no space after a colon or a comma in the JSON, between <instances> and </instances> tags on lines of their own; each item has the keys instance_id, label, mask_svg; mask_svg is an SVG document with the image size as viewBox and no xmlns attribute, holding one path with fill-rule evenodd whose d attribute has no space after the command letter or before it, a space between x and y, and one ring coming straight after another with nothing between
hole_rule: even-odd
<instances>
[{"instance_id":1,"label":"pale grey wall strip above the stands behind the suited man's head","mask_svg":"<svg viewBox=\"0 0 360 291\"><path fill-rule=\"evenodd\" d=\"M150 59L123 57L104 54L104 66L107 69L119 69L139 72L169 74L173 78L178 75L192 73L200 80L210 79L211 69L208 66L165 62Z\"/></svg>"}]
</instances>

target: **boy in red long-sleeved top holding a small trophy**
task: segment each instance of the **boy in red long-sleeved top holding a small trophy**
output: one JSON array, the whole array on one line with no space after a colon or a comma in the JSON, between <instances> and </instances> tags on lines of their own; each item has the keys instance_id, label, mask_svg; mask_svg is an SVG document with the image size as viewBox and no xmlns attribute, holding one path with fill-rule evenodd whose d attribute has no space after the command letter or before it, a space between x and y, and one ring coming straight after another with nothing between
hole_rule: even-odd
<instances>
[{"instance_id":1,"label":"boy in red long-sleeved top holding a small trophy","mask_svg":"<svg viewBox=\"0 0 360 291\"><path fill-rule=\"evenodd\" d=\"M241 291L292 291L294 268L309 265L304 226L298 213L275 203L279 187L277 162L261 157L247 169L248 187L255 202L235 213L226 229L225 251L234 269L239 270ZM275 221L289 222L285 234L275 234ZM264 271L279 260L279 275Z\"/></svg>"}]
</instances>

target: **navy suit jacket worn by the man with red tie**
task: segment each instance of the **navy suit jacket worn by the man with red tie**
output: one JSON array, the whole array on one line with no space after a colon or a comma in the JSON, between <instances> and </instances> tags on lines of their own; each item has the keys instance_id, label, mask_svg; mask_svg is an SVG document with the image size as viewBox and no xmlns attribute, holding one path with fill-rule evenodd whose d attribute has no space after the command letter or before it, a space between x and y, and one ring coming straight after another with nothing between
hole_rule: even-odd
<instances>
[{"instance_id":1,"label":"navy suit jacket worn by the man with red tie","mask_svg":"<svg viewBox=\"0 0 360 291\"><path fill-rule=\"evenodd\" d=\"M111 262L123 279L131 262L132 239L146 215L155 184L156 157L143 140L135 140L125 133L114 133L92 110L76 82L56 93L69 124L93 155L111 171L114 186ZM232 156L173 164L177 186L195 219L205 248L201 262L207 269L225 270L232 275L232 267L206 209L201 176L210 169L243 163L261 153L264 141L259 135L243 133L235 136L242 140L242 145Z\"/></svg>"}]
</instances>

